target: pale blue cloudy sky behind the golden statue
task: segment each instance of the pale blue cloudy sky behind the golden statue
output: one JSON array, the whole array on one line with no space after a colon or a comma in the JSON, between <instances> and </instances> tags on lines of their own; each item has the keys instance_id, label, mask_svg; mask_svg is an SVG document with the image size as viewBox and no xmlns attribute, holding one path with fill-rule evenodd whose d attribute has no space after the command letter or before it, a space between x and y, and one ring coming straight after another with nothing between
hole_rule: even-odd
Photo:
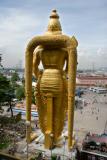
<instances>
[{"instance_id":1,"label":"pale blue cloudy sky behind the golden statue","mask_svg":"<svg viewBox=\"0 0 107 160\"><path fill-rule=\"evenodd\" d=\"M24 66L26 45L45 32L52 9L63 33L78 40L78 68L107 67L107 0L0 0L3 65Z\"/></svg>"}]
</instances>

